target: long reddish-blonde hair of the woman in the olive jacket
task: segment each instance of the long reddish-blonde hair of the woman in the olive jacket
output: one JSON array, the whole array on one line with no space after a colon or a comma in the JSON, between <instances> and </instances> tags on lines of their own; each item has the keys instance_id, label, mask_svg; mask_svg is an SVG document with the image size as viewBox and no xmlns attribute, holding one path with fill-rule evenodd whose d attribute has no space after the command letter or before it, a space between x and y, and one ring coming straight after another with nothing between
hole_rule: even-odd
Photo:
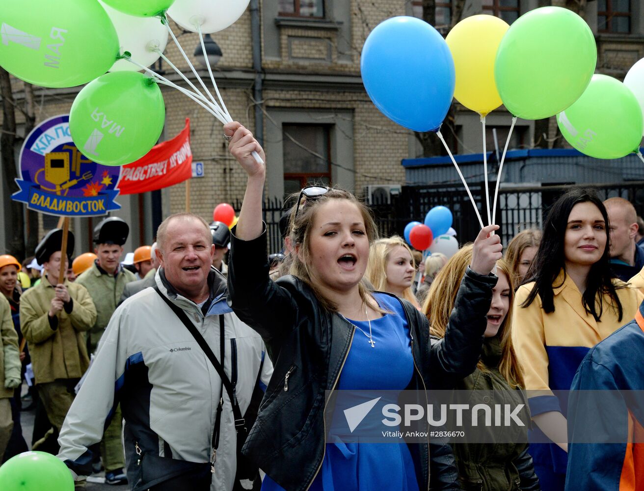
<instances>
[{"instance_id":1,"label":"long reddish-blonde hair of the woman in the olive jacket","mask_svg":"<svg viewBox=\"0 0 644 491\"><path fill-rule=\"evenodd\" d=\"M451 256L446 265L439 271L430 287L430 293L427 295L423 313L430 321L430 334L437 338L443 338L450 321L451 311L454 309L456 296L459 293L460 282L465 275L468 265L472 262L472 244L463 246L459 252ZM504 260L497 261L497 270L506 274L510 287L509 309L503 324L498 330L497 336L501 336L501 362L498 371L509 383L510 387L524 387L523 371L516 358L515 349L512 343L512 303L514 289L512 285L512 275L509 266ZM482 371L488 371L488 367L479 360L477 368Z\"/></svg>"}]
</instances>

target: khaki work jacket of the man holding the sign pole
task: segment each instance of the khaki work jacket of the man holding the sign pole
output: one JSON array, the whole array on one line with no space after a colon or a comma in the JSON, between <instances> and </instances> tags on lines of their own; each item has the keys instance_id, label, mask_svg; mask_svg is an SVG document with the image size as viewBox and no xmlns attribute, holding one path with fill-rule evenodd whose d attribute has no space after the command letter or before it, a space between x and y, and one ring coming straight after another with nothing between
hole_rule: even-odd
<instances>
[{"instance_id":1,"label":"khaki work jacket of the man holding the sign pole","mask_svg":"<svg viewBox=\"0 0 644 491\"><path fill-rule=\"evenodd\" d=\"M56 329L48 318L55 291L47 278L20 298L20 327L29 343L36 383L80 378L90 364L84 331L96 322L96 308L85 287L67 280L64 285L72 309L70 314L64 310L57 314Z\"/></svg>"}]
</instances>

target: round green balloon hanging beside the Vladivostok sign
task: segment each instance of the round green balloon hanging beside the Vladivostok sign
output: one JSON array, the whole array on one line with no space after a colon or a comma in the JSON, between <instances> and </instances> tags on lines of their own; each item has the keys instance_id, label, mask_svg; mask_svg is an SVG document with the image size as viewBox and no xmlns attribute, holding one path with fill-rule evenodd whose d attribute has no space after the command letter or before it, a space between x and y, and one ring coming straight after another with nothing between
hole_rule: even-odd
<instances>
[{"instance_id":1,"label":"round green balloon hanging beside the Vladivostok sign","mask_svg":"<svg viewBox=\"0 0 644 491\"><path fill-rule=\"evenodd\" d=\"M163 95L151 78L138 72L106 73L71 104L71 139L94 162L122 166L146 155L165 119Z\"/></svg>"}]
</instances>

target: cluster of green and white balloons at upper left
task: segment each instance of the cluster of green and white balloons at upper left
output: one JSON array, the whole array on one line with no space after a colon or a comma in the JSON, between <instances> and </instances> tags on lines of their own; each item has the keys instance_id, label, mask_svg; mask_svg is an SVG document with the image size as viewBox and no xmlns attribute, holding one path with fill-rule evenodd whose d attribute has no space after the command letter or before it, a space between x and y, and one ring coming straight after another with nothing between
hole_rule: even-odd
<instances>
[{"instance_id":1,"label":"cluster of green and white balloons at upper left","mask_svg":"<svg viewBox=\"0 0 644 491\"><path fill-rule=\"evenodd\" d=\"M0 65L43 87L87 83L71 106L72 139L94 162L129 164L156 144L166 119L160 79L138 73L166 48L166 14L185 30L212 33L234 23L248 4L57 0L52 8L48 0L5 1Z\"/></svg>"}]
</instances>

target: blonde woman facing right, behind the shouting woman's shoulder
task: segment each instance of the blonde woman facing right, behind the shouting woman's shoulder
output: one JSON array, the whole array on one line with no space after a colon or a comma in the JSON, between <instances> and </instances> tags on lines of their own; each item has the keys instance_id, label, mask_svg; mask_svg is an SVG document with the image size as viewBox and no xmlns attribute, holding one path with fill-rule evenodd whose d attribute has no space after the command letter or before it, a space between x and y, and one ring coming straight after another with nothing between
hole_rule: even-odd
<instances>
[{"instance_id":1,"label":"blonde woman facing right, behind the shouting woman's shoulder","mask_svg":"<svg viewBox=\"0 0 644 491\"><path fill-rule=\"evenodd\" d=\"M375 291L393 293L420 309L412 292L415 273L412 250L403 238L394 235L376 240L371 245L365 276L374 285Z\"/></svg>"}]
</instances>

